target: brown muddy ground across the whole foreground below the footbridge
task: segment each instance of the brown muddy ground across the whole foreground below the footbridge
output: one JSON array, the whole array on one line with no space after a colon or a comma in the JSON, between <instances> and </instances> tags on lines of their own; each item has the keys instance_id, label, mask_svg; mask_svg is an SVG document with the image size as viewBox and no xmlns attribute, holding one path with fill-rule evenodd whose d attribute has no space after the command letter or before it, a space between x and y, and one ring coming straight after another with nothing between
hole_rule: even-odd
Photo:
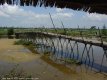
<instances>
[{"instance_id":1,"label":"brown muddy ground across the whole foreground below the footbridge","mask_svg":"<svg viewBox=\"0 0 107 80\"><path fill-rule=\"evenodd\" d=\"M21 45L14 45L14 41L16 39L0 39L1 73L19 64L19 67L31 74L34 80L107 80L106 75L87 71L82 66L71 66L73 72L64 73L54 67L54 64L41 59L39 54L31 53Z\"/></svg>"}]
</instances>

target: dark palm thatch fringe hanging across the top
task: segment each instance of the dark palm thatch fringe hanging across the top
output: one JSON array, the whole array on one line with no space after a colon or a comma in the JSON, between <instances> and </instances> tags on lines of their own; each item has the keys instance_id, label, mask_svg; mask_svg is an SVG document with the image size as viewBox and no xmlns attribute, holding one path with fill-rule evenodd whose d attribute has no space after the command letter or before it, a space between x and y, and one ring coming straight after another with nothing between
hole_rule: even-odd
<instances>
[{"instance_id":1,"label":"dark palm thatch fringe hanging across the top","mask_svg":"<svg viewBox=\"0 0 107 80\"><path fill-rule=\"evenodd\" d=\"M0 0L0 5L20 4L21 6L44 6L83 10L89 13L107 14L107 0Z\"/></svg>"}]
</instances>

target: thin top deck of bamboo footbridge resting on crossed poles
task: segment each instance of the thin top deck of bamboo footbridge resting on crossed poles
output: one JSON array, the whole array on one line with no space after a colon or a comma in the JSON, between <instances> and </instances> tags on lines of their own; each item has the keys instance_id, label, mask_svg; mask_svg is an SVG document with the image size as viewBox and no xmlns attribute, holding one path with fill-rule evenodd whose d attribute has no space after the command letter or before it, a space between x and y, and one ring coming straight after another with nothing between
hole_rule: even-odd
<instances>
[{"instance_id":1,"label":"thin top deck of bamboo footbridge resting on crossed poles","mask_svg":"<svg viewBox=\"0 0 107 80\"><path fill-rule=\"evenodd\" d=\"M101 43L101 41L96 41L96 40L87 40L87 39L79 39L79 38L75 38L75 37L71 37L71 36L67 36L67 35L61 35L61 34L54 34L54 33L48 33L47 32L23 32L23 33L15 33L16 35L21 35L21 34L39 34L39 35L44 35L47 37L53 37L53 38L61 38L61 39L69 39L71 41L76 41L79 43L83 43L83 44L90 44L90 45L94 45L94 46L99 46L102 47L103 49L107 49L107 42L104 42L103 44Z\"/></svg>"}]
</instances>

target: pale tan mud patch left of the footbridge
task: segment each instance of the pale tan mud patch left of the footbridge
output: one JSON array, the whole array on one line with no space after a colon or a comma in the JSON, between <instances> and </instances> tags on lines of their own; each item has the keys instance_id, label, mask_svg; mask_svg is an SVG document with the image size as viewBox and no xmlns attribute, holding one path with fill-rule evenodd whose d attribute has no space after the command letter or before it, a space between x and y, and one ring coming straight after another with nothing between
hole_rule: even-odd
<instances>
[{"instance_id":1,"label":"pale tan mud patch left of the footbridge","mask_svg":"<svg viewBox=\"0 0 107 80\"><path fill-rule=\"evenodd\" d=\"M14 45L15 39L0 40L0 60L9 62L25 62L38 58L21 45Z\"/></svg>"}]
</instances>

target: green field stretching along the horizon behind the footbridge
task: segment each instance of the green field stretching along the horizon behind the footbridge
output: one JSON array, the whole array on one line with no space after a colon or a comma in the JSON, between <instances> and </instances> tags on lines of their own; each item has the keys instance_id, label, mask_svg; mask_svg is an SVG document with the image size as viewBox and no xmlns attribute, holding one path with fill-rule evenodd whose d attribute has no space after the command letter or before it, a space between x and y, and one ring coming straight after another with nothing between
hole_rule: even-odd
<instances>
[{"instance_id":1,"label":"green field stretching along the horizon behind the footbridge","mask_svg":"<svg viewBox=\"0 0 107 80\"><path fill-rule=\"evenodd\" d=\"M0 35L7 35L11 28L0 28ZM107 41L107 29L84 29L84 28L13 28L14 32L50 32L62 35L68 35L72 37L83 37L83 38L102 38Z\"/></svg>"}]
</instances>

